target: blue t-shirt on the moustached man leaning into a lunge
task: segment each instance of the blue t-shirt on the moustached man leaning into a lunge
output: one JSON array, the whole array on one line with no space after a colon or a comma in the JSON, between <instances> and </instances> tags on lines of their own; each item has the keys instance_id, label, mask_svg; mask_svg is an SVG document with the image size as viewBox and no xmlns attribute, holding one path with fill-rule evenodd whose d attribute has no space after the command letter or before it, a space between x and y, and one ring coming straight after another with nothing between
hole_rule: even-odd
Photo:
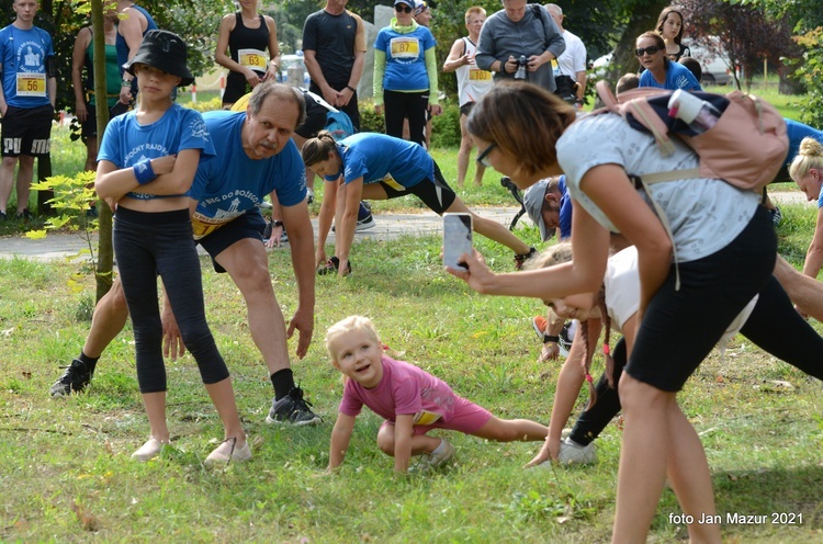
<instances>
[{"instance_id":1,"label":"blue t-shirt on the moustached man leaning into a lunge","mask_svg":"<svg viewBox=\"0 0 823 544\"><path fill-rule=\"evenodd\" d=\"M293 140L268 159L252 159L240 138L246 112L215 111L203 114L216 157L200 161L191 197L200 201L192 215L194 238L253 209L277 192L281 206L294 206L306 197L306 172Z\"/></svg>"}]
</instances>

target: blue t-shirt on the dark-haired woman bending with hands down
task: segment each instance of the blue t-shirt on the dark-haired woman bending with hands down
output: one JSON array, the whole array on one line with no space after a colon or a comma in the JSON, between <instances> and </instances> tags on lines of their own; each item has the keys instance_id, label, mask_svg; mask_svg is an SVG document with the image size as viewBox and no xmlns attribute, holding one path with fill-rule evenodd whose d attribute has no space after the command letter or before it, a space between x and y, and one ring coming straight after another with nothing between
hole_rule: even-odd
<instances>
[{"instance_id":1,"label":"blue t-shirt on the dark-haired woman bending with hands down","mask_svg":"<svg viewBox=\"0 0 823 544\"><path fill-rule=\"evenodd\" d=\"M435 161L419 144L386 136L359 133L338 144L346 183L363 178L363 184L382 181L405 191L422 180L435 180ZM337 174L339 175L339 173ZM337 175L326 181L337 180Z\"/></svg>"}]
</instances>

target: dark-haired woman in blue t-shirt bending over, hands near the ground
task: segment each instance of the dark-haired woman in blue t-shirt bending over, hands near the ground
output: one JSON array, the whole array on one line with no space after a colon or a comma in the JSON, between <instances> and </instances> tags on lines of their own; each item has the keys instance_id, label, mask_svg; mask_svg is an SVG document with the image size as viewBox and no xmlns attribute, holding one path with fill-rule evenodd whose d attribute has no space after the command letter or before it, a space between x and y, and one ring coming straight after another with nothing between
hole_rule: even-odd
<instances>
[{"instance_id":1,"label":"dark-haired woman in blue t-shirt bending over, hands near the ground","mask_svg":"<svg viewBox=\"0 0 823 544\"><path fill-rule=\"evenodd\" d=\"M349 250L354 239L360 201L384 201L414 194L438 215L472 215L477 234L511 248L519 269L535 252L505 226L472 213L446 183L429 154L413 141L384 134L360 133L336 141L327 131L303 145L303 162L329 182L317 228L318 273L351 272ZM480 157L482 159L483 157ZM326 258L326 237L335 219L335 256Z\"/></svg>"}]
</instances>

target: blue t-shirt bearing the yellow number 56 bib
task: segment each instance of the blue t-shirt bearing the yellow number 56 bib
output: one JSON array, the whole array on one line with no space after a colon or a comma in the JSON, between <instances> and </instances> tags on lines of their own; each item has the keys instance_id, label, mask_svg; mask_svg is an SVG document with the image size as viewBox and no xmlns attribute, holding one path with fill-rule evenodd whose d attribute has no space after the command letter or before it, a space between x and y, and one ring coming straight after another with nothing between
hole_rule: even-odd
<instances>
[{"instance_id":1,"label":"blue t-shirt bearing the yellow number 56 bib","mask_svg":"<svg viewBox=\"0 0 823 544\"><path fill-rule=\"evenodd\" d=\"M52 36L43 29L21 30L10 24L0 30L3 97L14 107L49 105L46 59L54 57Z\"/></svg>"}]
</instances>

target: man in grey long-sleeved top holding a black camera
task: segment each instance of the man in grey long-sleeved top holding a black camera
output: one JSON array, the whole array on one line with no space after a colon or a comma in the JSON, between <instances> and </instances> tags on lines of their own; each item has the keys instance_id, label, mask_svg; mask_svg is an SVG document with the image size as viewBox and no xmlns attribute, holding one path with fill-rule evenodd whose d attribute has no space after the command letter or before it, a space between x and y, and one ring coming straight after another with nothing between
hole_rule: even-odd
<instances>
[{"instance_id":1,"label":"man in grey long-sleeved top holding a black camera","mask_svg":"<svg viewBox=\"0 0 823 544\"><path fill-rule=\"evenodd\" d=\"M540 4L503 0L503 10L486 20L475 63L495 81L525 79L554 92L551 61L566 48L557 25Z\"/></svg>"}]
</instances>

